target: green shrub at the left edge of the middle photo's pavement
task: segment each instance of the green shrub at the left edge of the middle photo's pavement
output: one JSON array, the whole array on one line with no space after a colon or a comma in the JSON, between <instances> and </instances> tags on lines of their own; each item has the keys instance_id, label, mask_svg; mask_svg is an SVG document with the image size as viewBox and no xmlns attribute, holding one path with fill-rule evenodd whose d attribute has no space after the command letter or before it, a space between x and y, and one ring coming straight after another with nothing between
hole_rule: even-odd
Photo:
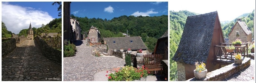
<instances>
[{"instance_id":1,"label":"green shrub at the left edge of the middle photo's pavement","mask_svg":"<svg viewBox=\"0 0 256 83\"><path fill-rule=\"evenodd\" d=\"M76 50L75 44L64 45L64 52L63 52L64 57L75 56L75 50Z\"/></svg>"}]
</instances>

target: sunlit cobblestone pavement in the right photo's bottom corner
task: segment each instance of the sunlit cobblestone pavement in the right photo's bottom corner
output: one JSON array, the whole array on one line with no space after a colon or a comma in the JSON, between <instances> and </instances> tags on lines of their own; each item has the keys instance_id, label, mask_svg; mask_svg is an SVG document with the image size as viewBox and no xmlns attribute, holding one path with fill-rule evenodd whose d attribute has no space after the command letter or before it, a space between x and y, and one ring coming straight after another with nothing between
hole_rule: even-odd
<instances>
[{"instance_id":1,"label":"sunlit cobblestone pavement in the right photo's bottom corner","mask_svg":"<svg viewBox=\"0 0 256 83\"><path fill-rule=\"evenodd\" d=\"M246 69L235 73L222 81L255 81L255 60L251 59L251 65Z\"/></svg>"}]
</instances>

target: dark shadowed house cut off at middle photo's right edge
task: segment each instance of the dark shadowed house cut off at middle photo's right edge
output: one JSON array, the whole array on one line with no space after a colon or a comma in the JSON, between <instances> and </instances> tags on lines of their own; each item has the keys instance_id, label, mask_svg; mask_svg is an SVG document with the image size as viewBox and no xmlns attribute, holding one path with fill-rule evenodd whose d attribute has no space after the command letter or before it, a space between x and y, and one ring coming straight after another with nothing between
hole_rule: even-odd
<instances>
[{"instance_id":1,"label":"dark shadowed house cut off at middle photo's right edge","mask_svg":"<svg viewBox=\"0 0 256 83\"><path fill-rule=\"evenodd\" d=\"M164 60L168 60L168 31L164 33L156 42L155 54L164 54Z\"/></svg>"}]
</instances>

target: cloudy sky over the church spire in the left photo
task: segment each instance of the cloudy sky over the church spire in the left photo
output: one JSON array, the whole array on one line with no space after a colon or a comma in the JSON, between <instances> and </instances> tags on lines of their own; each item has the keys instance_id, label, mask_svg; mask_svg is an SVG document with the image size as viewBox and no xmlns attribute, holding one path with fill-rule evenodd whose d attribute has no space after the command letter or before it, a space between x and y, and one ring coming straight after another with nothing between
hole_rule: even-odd
<instances>
[{"instance_id":1,"label":"cloudy sky over the church spire in the left photo","mask_svg":"<svg viewBox=\"0 0 256 83\"><path fill-rule=\"evenodd\" d=\"M19 34L20 30L46 25L58 17L58 6L53 2L2 2L2 21L7 30Z\"/></svg>"}]
</instances>

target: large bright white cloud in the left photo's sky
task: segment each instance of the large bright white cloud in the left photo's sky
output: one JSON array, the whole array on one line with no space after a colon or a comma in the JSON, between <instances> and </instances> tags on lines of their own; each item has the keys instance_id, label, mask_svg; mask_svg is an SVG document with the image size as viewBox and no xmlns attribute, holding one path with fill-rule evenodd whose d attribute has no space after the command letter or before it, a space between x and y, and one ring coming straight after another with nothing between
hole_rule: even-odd
<instances>
[{"instance_id":1,"label":"large bright white cloud in the left photo's sky","mask_svg":"<svg viewBox=\"0 0 256 83\"><path fill-rule=\"evenodd\" d=\"M34 10L31 7L21 7L9 3L2 3L2 21L8 31L19 34L20 30L28 29L31 21L32 27L46 25L52 19L48 12Z\"/></svg>"}]
</instances>

